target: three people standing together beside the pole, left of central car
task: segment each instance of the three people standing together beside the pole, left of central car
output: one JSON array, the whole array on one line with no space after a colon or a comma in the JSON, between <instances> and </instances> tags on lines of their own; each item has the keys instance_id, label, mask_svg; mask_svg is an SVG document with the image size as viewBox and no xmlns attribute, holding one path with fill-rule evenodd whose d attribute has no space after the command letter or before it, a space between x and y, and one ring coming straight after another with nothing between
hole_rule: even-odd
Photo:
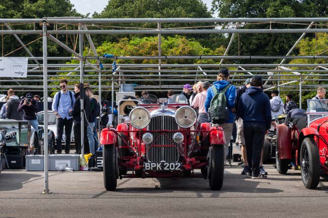
<instances>
[{"instance_id":1,"label":"three people standing together beside the pole, left of central car","mask_svg":"<svg viewBox=\"0 0 328 218\"><path fill-rule=\"evenodd\" d=\"M98 99L93 94L88 84L74 85L74 92L68 90L68 81L63 79L59 81L61 91L58 91L52 101L52 111L56 114L56 149L57 154L62 154L62 138L65 127L65 154L70 153L70 135L73 127L74 143L76 154L81 154L81 148L84 146L84 153L95 154L98 149L97 136L97 116L99 116L100 105ZM84 90L81 93L81 89ZM84 108L84 138L81 144L81 101ZM88 145L88 146L86 146Z\"/></svg>"}]
</instances>

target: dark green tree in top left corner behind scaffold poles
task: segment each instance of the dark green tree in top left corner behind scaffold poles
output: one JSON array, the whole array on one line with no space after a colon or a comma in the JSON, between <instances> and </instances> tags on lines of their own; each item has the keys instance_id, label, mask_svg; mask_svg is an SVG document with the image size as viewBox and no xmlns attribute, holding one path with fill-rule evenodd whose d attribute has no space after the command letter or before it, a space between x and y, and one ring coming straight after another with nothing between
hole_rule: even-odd
<instances>
[{"instance_id":1,"label":"dark green tree in top left corner behind scaffold poles","mask_svg":"<svg viewBox=\"0 0 328 218\"><path fill-rule=\"evenodd\" d=\"M72 17L81 16L73 9L69 0L2 0L0 2L0 17L2 18L43 18L43 17ZM10 24L13 29L42 29L38 23L32 25ZM53 25L48 26L54 29ZM3 29L7 29L6 26ZM19 35L23 43L28 44L28 49L35 56L42 56L42 40L40 35ZM58 39L65 40L65 36L58 36ZM35 42L34 42L35 41ZM32 43L33 42L33 43ZM12 35L4 35L1 42L4 46L4 55L21 47ZM48 43L49 56L67 54L62 49L57 49L54 43ZM24 49L19 49L10 54L11 56L26 56Z\"/></svg>"}]
</instances>

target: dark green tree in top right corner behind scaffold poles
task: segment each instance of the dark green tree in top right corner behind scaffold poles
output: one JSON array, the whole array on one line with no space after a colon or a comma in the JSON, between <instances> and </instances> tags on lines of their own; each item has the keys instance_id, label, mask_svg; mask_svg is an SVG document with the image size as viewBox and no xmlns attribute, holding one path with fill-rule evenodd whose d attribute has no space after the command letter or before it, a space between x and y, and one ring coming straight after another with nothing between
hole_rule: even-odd
<instances>
[{"instance_id":1,"label":"dark green tree in top right corner behind scaffold poles","mask_svg":"<svg viewBox=\"0 0 328 218\"><path fill-rule=\"evenodd\" d=\"M325 17L327 5L328 0L214 0L212 12L222 18ZM272 28L291 27L305 28L304 25L272 24ZM239 28L270 28L270 24L247 24ZM240 41L231 46L230 54L238 54L239 45L241 55L285 55L299 37L300 34L291 33L240 34Z\"/></svg>"}]
</instances>

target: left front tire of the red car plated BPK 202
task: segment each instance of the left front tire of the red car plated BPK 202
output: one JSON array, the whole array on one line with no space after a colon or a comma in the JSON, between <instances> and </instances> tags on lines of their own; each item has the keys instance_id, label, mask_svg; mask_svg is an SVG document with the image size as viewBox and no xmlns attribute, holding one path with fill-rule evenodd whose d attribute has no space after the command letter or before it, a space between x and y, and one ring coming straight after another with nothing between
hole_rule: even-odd
<instances>
[{"instance_id":1,"label":"left front tire of the red car plated BPK 202","mask_svg":"<svg viewBox=\"0 0 328 218\"><path fill-rule=\"evenodd\" d=\"M103 150L104 186L107 191L114 191L117 186L116 157L113 144L105 144Z\"/></svg>"}]
</instances>

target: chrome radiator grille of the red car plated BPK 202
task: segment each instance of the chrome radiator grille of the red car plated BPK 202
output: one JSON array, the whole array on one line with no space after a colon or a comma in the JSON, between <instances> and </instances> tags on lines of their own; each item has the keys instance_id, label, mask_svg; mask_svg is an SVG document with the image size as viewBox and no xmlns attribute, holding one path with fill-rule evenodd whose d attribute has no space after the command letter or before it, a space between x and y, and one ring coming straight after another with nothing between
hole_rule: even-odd
<instances>
[{"instance_id":1,"label":"chrome radiator grille of the red car plated BPK 202","mask_svg":"<svg viewBox=\"0 0 328 218\"><path fill-rule=\"evenodd\" d=\"M149 124L149 130L178 130L174 117L159 116L153 117ZM174 147L151 147L147 150L146 155L150 162L177 162L179 159L179 152L177 150L178 144L174 143L172 135L174 132L154 132L154 142L147 144L146 149L157 145L174 145Z\"/></svg>"}]
</instances>

